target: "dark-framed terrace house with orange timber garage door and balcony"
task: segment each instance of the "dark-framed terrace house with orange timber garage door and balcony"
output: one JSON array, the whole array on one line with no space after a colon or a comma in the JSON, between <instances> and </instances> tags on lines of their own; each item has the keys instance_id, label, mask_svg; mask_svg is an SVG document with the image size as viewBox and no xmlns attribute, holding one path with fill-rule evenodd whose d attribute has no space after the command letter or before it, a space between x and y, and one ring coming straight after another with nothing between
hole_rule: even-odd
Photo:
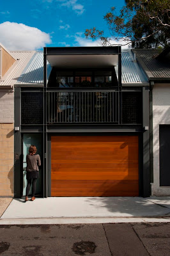
<instances>
[{"instance_id":1,"label":"dark-framed terrace house with orange timber garage door and balcony","mask_svg":"<svg viewBox=\"0 0 170 256\"><path fill-rule=\"evenodd\" d=\"M15 83L15 197L31 144L40 196L150 196L149 83L132 52L35 52Z\"/></svg>"}]
</instances>

